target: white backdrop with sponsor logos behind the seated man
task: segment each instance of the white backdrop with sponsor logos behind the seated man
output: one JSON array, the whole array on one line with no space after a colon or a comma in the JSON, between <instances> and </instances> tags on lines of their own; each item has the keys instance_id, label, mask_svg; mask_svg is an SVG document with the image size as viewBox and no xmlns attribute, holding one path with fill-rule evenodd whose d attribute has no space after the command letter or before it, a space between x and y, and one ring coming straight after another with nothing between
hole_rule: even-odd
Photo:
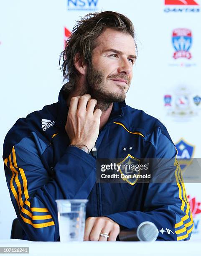
<instances>
[{"instance_id":1,"label":"white backdrop with sponsor logos behind the seated man","mask_svg":"<svg viewBox=\"0 0 201 256\"><path fill-rule=\"evenodd\" d=\"M18 118L58 100L62 86L59 54L64 48L65 28L71 31L75 20L87 13L112 10L127 15L136 29L139 56L127 105L162 121L180 157L201 158L201 0L193 2L0 0L1 155L5 135ZM184 57L174 59L174 52ZM0 238L9 238L15 212L3 160L0 174ZM186 190L195 223L192 239L198 239L201 184L186 184Z\"/></svg>"}]
</instances>

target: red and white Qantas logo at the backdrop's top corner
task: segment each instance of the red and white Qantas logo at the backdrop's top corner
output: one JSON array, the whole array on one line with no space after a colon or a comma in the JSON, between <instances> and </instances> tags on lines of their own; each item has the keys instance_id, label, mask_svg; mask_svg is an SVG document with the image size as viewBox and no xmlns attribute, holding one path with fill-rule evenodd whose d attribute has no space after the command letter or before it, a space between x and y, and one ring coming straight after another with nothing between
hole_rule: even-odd
<instances>
[{"instance_id":1,"label":"red and white Qantas logo at the backdrop's top corner","mask_svg":"<svg viewBox=\"0 0 201 256\"><path fill-rule=\"evenodd\" d=\"M165 13L199 13L197 1L194 0L165 0ZM175 6L176 5L176 6Z\"/></svg>"}]
</instances>

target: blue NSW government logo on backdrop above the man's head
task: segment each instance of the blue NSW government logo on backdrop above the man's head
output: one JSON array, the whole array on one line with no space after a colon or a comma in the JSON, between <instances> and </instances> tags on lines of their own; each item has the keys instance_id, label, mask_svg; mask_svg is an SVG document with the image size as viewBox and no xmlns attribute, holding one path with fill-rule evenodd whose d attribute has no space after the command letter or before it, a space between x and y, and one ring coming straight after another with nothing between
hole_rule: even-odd
<instances>
[{"instance_id":1,"label":"blue NSW government logo on backdrop above the man's head","mask_svg":"<svg viewBox=\"0 0 201 256\"><path fill-rule=\"evenodd\" d=\"M67 8L70 11L97 11L98 0L67 0Z\"/></svg>"}]
</instances>

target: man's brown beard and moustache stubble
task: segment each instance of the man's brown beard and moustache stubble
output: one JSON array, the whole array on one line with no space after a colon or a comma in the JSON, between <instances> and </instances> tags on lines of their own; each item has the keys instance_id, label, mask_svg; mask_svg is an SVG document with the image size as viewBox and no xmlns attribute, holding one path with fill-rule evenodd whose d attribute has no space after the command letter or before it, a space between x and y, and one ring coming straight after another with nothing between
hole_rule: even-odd
<instances>
[{"instance_id":1,"label":"man's brown beard and moustache stubble","mask_svg":"<svg viewBox=\"0 0 201 256\"><path fill-rule=\"evenodd\" d=\"M109 76L108 78L124 79L127 81L128 89L130 87L130 78L128 75L117 74ZM92 98L97 100L96 108L106 111L112 102L122 102L125 100L128 89L125 92L124 86L118 84L117 86L120 88L121 92L108 92L104 82L104 74L91 66L87 67L86 85L81 95L86 93L90 94Z\"/></svg>"}]
</instances>

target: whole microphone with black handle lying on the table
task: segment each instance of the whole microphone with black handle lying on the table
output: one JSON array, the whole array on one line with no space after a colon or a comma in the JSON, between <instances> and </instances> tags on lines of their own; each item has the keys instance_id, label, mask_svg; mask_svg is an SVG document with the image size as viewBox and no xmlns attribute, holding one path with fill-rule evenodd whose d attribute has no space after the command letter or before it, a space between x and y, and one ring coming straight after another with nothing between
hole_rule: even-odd
<instances>
[{"instance_id":1,"label":"whole microphone with black handle lying on the table","mask_svg":"<svg viewBox=\"0 0 201 256\"><path fill-rule=\"evenodd\" d=\"M158 228L150 221L142 222L137 229L125 229L120 231L120 241L156 241Z\"/></svg>"}]
</instances>

